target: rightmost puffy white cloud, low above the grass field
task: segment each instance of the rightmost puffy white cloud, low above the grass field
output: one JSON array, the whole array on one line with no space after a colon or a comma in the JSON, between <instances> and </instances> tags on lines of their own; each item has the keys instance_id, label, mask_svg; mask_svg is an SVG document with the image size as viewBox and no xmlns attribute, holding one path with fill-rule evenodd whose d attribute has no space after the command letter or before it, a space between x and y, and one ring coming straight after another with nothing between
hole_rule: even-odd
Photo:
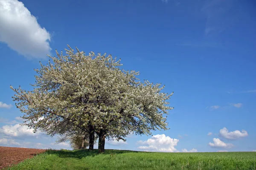
<instances>
[{"instance_id":1,"label":"rightmost puffy white cloud, low above the grass field","mask_svg":"<svg viewBox=\"0 0 256 170\"><path fill-rule=\"evenodd\" d=\"M233 132L228 132L227 128L224 127L220 130L220 135L226 139L239 139L245 136L248 136L248 133L246 130L235 130Z\"/></svg>"}]
</instances>

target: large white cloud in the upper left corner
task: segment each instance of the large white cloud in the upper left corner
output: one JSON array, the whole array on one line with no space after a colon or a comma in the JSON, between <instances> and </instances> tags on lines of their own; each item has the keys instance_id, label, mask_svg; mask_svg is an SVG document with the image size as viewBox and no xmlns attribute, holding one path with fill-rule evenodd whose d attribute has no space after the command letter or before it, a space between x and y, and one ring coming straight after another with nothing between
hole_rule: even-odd
<instances>
[{"instance_id":1,"label":"large white cloud in the upper left corner","mask_svg":"<svg viewBox=\"0 0 256 170\"><path fill-rule=\"evenodd\" d=\"M18 0L0 1L0 41L28 58L50 54L51 35Z\"/></svg>"}]
</instances>

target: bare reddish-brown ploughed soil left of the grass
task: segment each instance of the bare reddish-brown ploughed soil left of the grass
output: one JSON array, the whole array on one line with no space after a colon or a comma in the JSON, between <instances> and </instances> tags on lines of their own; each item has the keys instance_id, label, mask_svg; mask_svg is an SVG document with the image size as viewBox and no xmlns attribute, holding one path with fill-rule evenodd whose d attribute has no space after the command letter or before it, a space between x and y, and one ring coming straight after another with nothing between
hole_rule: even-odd
<instances>
[{"instance_id":1,"label":"bare reddish-brown ploughed soil left of the grass","mask_svg":"<svg viewBox=\"0 0 256 170\"><path fill-rule=\"evenodd\" d=\"M0 169L17 164L24 159L32 158L36 154L44 151L44 149L0 146Z\"/></svg>"}]
</instances>

